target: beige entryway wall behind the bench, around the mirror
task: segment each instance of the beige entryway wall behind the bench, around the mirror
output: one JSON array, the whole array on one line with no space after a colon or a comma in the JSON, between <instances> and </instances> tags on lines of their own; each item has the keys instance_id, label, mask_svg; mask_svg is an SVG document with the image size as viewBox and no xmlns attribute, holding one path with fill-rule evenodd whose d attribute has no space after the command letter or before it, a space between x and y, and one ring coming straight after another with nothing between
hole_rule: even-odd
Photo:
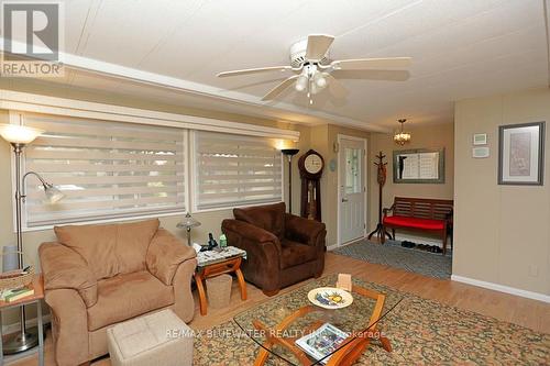
<instances>
[{"instance_id":1,"label":"beige entryway wall behind the bench, around the mirror","mask_svg":"<svg viewBox=\"0 0 550 366\"><path fill-rule=\"evenodd\" d=\"M397 124L397 123L396 123ZM410 123L413 124L413 123ZM410 127L410 125L407 125ZM420 198L453 198L453 170L454 170L454 131L452 123L428 125L421 127L406 129L411 134L410 143L399 146L394 143L393 134L372 134L370 152L371 163L369 165L369 178L371 181L370 197L370 226L376 228L378 222L378 184L376 182L376 166L373 164L375 155L383 152L387 160L387 179L383 189L383 207L391 207L394 197L420 197ZM444 184L394 184L393 176L393 152L410 148L441 148L444 147ZM430 235L415 233L416 236L428 237Z\"/></svg>"}]
</instances>

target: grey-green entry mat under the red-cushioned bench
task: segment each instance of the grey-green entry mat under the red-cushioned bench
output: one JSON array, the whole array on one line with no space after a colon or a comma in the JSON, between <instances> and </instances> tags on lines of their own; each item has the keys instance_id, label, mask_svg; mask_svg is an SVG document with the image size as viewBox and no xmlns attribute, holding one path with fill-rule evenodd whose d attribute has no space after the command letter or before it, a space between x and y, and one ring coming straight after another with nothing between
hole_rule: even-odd
<instances>
[{"instance_id":1,"label":"grey-green entry mat under the red-cushioned bench","mask_svg":"<svg viewBox=\"0 0 550 366\"><path fill-rule=\"evenodd\" d=\"M400 246L400 242L386 241L385 244L375 244L360 241L332 253L345 255L369 263L382 264L391 267L414 271L420 275L450 278L452 257L437 253L410 249Z\"/></svg>"}]
</instances>

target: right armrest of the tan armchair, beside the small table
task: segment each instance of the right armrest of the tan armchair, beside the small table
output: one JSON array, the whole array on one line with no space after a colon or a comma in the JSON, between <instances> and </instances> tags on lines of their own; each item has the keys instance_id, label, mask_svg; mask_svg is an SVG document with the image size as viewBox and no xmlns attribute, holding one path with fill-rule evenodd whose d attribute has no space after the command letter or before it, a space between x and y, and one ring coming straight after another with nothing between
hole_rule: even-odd
<instances>
[{"instance_id":1,"label":"right armrest of the tan armchair, beside the small table","mask_svg":"<svg viewBox=\"0 0 550 366\"><path fill-rule=\"evenodd\" d=\"M172 286L180 264L197 256L195 249L185 245L165 229L158 229L147 248L147 270L164 285Z\"/></svg>"}]
</instances>

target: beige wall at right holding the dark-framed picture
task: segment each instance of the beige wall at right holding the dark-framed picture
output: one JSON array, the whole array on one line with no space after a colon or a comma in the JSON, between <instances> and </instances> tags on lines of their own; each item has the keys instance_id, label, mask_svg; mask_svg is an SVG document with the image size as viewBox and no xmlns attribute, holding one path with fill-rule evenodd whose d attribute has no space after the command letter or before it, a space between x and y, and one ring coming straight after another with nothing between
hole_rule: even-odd
<instances>
[{"instance_id":1,"label":"beige wall at right holding the dark-framed picture","mask_svg":"<svg viewBox=\"0 0 550 366\"><path fill-rule=\"evenodd\" d=\"M498 125L547 121L544 186L498 186ZM453 275L550 295L550 90L455 104ZM472 135L491 156L472 158Z\"/></svg>"}]
</instances>

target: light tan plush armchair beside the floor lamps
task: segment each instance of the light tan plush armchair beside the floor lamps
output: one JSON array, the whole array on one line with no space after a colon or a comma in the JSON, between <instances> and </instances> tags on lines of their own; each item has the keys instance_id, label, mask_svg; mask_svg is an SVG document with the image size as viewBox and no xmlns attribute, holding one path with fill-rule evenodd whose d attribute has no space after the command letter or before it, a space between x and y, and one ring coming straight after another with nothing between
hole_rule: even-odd
<instances>
[{"instance_id":1,"label":"light tan plush armchair beside the floor lamps","mask_svg":"<svg viewBox=\"0 0 550 366\"><path fill-rule=\"evenodd\" d=\"M57 242L40 246L57 365L107 354L107 328L118 322L165 308L193 319L196 253L158 225L56 226Z\"/></svg>"}]
</instances>

